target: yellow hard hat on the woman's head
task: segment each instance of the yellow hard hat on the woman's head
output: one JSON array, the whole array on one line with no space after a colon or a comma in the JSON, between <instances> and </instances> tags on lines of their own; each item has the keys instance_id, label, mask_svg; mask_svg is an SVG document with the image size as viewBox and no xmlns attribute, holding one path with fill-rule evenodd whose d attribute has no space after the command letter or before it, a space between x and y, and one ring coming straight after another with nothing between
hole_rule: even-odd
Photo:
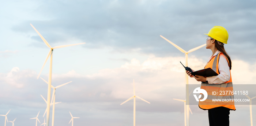
<instances>
[{"instance_id":1,"label":"yellow hard hat on the woman's head","mask_svg":"<svg viewBox=\"0 0 256 126\"><path fill-rule=\"evenodd\" d=\"M227 44L227 39L229 38L229 33L221 26L214 26L207 35L225 44Z\"/></svg>"}]
</instances>

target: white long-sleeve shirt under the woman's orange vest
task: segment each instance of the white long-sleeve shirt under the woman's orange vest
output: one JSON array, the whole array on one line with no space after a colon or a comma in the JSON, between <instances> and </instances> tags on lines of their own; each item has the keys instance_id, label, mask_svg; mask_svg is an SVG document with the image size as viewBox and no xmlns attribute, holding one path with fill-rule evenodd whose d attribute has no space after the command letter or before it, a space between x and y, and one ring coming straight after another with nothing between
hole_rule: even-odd
<instances>
[{"instance_id":1,"label":"white long-sleeve shirt under the woman's orange vest","mask_svg":"<svg viewBox=\"0 0 256 126\"><path fill-rule=\"evenodd\" d=\"M213 56L216 56L219 52L220 51L217 50L217 52ZM210 59L211 57L209 57L208 61L210 61ZM227 62L227 59L225 56L223 55L219 56L219 75L206 77L206 79L209 84L222 84L230 80L229 63Z\"/></svg>"}]
</instances>

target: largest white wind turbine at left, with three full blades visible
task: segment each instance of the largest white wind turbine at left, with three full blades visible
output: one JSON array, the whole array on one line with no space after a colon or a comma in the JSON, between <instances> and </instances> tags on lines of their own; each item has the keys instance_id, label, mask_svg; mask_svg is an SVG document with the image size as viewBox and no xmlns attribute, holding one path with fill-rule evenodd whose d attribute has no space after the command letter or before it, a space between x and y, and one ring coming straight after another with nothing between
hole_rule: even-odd
<instances>
[{"instance_id":1,"label":"largest white wind turbine at left, with three full blades visible","mask_svg":"<svg viewBox=\"0 0 256 126\"><path fill-rule=\"evenodd\" d=\"M45 40L45 38L37 31L37 29L35 29L35 27L30 24L34 30L38 33L38 35L42 38L42 40L45 42L46 46L48 46L50 48L50 51L45 59L45 62L44 62L44 65L42 66L42 69L40 70L38 76L37 76L37 79L39 78L44 66L45 66L45 63L46 61L48 60L49 56L50 56L50 68L49 68L49 79L48 79L48 82L49 82L49 85L48 85L48 93L47 93L47 114L46 114L46 126L49 126L49 117L50 117L50 97L51 97L51 85L52 85L52 57L53 57L53 49L57 49L57 48L63 48L63 47L67 47L67 46L73 46L73 45L79 45L79 44L85 44L84 43L78 43L78 44L71 44L71 45L60 45L60 46L55 46L55 47L52 47L50 46L50 44Z\"/></svg>"}]
</instances>

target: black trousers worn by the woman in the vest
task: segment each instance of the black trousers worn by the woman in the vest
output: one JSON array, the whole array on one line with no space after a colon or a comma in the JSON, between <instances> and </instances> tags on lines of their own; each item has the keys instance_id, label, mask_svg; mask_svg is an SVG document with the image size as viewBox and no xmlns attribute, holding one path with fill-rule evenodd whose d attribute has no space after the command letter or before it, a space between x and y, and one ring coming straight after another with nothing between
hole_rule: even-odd
<instances>
[{"instance_id":1,"label":"black trousers worn by the woman in the vest","mask_svg":"<svg viewBox=\"0 0 256 126\"><path fill-rule=\"evenodd\" d=\"M208 110L210 126L229 126L229 111L226 107L216 107Z\"/></svg>"}]
</instances>

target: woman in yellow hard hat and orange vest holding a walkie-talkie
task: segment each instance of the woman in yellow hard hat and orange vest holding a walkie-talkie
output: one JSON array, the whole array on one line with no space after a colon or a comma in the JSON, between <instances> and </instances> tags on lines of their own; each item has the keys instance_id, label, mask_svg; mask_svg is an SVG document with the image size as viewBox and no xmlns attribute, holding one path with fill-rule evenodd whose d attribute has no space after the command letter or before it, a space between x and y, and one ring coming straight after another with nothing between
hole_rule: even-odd
<instances>
[{"instance_id":1,"label":"woman in yellow hard hat and orange vest holding a walkie-talkie","mask_svg":"<svg viewBox=\"0 0 256 126\"><path fill-rule=\"evenodd\" d=\"M229 111L236 110L234 106L234 94L231 79L231 60L224 49L229 37L225 28L215 26L210 29L206 37L206 49L211 49L212 56L209 58L206 68L211 68L218 76L203 77L193 76L191 72L186 71L190 77L194 77L197 81L202 81L201 89L208 93L205 101L199 101L199 107L208 110L208 118L210 126L229 126ZM192 70L194 71L194 70ZM223 93L225 91L231 93ZM213 95L212 92L217 92ZM212 99L225 99L222 101L214 101Z\"/></svg>"}]
</instances>

